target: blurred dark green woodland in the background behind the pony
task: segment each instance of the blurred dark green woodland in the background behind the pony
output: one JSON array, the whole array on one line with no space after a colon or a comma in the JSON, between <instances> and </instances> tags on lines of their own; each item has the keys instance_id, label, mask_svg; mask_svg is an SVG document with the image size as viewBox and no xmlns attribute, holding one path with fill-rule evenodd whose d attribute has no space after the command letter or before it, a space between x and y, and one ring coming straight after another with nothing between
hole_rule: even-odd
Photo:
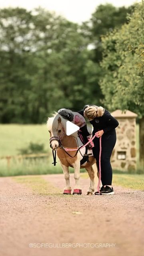
<instances>
[{"instance_id":1,"label":"blurred dark green woodland in the background behind the pony","mask_svg":"<svg viewBox=\"0 0 144 256\"><path fill-rule=\"evenodd\" d=\"M100 5L91 25L80 26L42 8L1 9L0 122L42 123L62 107L100 104L102 48L96 40L101 44L101 34L120 27L127 11Z\"/></svg>"}]
</instances>

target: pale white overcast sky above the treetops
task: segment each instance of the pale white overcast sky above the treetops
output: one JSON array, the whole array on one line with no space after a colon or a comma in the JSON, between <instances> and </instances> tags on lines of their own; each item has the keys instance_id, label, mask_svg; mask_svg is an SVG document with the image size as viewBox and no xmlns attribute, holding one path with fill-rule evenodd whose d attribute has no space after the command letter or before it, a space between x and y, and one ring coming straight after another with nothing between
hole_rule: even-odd
<instances>
[{"instance_id":1,"label":"pale white overcast sky above the treetops","mask_svg":"<svg viewBox=\"0 0 144 256\"><path fill-rule=\"evenodd\" d=\"M130 6L140 0L0 0L0 8L23 7L28 10L41 6L55 11L73 22L88 20L99 4L112 3L114 6Z\"/></svg>"}]
</instances>

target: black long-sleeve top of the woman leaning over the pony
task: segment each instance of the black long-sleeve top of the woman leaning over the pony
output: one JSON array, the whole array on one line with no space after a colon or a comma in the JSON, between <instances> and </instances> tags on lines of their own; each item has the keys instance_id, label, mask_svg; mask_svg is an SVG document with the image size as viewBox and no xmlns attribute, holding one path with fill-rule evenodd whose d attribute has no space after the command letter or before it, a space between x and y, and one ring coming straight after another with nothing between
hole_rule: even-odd
<instances>
[{"instance_id":1,"label":"black long-sleeve top of the woman leaning over the pony","mask_svg":"<svg viewBox=\"0 0 144 256\"><path fill-rule=\"evenodd\" d=\"M79 113L84 116L84 111L80 110ZM90 124L94 127L93 132L98 132L99 130L103 130L104 133L111 133L118 126L118 121L116 118L111 116L110 112L105 109L103 116L96 117L90 121Z\"/></svg>"}]
</instances>

